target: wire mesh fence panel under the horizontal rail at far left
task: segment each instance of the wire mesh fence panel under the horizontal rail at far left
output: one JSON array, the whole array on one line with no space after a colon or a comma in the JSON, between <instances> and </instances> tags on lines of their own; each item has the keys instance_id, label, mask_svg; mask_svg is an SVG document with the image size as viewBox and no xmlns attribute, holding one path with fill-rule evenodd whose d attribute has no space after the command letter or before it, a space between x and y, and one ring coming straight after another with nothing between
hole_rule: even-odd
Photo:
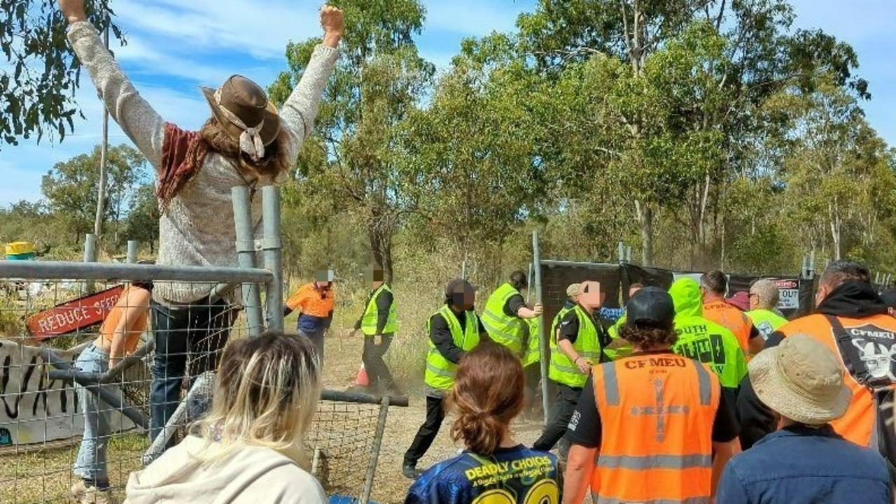
<instances>
[{"instance_id":1,"label":"wire mesh fence panel under the horizontal rail at far left","mask_svg":"<svg viewBox=\"0 0 896 504\"><path fill-rule=\"evenodd\" d=\"M216 286L0 279L0 502L69 502L107 485L123 495L142 468L150 419L166 416L159 406L176 407L227 341L247 334L233 293L151 306L150 290ZM155 401L153 363L164 382ZM175 427L172 441L184 431Z\"/></svg>"}]
</instances>

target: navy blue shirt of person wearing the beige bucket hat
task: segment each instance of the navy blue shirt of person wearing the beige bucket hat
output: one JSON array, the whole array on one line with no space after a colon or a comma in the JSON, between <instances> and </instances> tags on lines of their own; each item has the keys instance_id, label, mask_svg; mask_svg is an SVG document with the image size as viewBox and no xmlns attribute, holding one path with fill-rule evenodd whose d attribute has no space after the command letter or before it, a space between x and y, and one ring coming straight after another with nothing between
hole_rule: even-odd
<instances>
[{"instance_id":1,"label":"navy blue shirt of person wearing the beige bucket hat","mask_svg":"<svg viewBox=\"0 0 896 504\"><path fill-rule=\"evenodd\" d=\"M718 504L892 504L881 455L830 426L791 425L728 462Z\"/></svg>"}]
</instances>

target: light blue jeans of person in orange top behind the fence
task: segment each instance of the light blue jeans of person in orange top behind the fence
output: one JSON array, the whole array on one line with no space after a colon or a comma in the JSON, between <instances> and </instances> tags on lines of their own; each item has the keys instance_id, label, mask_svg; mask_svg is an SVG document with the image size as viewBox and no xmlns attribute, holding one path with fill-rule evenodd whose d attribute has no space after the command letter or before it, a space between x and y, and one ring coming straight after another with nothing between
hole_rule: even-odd
<instances>
[{"instance_id":1,"label":"light blue jeans of person in orange top behind the fence","mask_svg":"<svg viewBox=\"0 0 896 504\"><path fill-rule=\"evenodd\" d=\"M74 367L82 372L108 372L109 355L99 346L90 343L81 355L78 355ZM74 461L73 473L97 488L106 488L109 484L106 473L106 449L112 406L100 401L96 394L77 382L74 384L74 390L84 414L84 436L81 448L78 448L78 457Z\"/></svg>"}]
</instances>

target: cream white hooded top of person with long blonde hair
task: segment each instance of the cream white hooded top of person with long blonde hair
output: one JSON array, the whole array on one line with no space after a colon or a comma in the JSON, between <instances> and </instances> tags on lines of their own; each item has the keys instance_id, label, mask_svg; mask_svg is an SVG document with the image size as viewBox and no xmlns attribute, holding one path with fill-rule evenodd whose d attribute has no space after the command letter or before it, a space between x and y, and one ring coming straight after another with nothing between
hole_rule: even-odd
<instances>
[{"instance_id":1,"label":"cream white hooded top of person with long blonde hair","mask_svg":"<svg viewBox=\"0 0 896 504\"><path fill-rule=\"evenodd\" d=\"M205 440L189 436L127 481L130 504L323 504L314 476L270 448L239 447L212 466L192 454Z\"/></svg>"}]
</instances>

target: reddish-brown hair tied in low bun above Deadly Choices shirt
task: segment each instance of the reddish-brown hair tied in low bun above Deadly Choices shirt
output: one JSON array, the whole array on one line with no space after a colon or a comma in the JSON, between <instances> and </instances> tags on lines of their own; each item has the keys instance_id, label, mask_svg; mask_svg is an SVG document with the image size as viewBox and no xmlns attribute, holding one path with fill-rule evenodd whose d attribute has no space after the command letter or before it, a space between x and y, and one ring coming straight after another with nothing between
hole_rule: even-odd
<instances>
[{"instance_id":1,"label":"reddish-brown hair tied in low bun above Deadly Choices shirt","mask_svg":"<svg viewBox=\"0 0 896 504\"><path fill-rule=\"evenodd\" d=\"M461 359L448 405L457 413L452 438L478 455L491 455L523 406L520 359L484 341Z\"/></svg>"}]
</instances>

